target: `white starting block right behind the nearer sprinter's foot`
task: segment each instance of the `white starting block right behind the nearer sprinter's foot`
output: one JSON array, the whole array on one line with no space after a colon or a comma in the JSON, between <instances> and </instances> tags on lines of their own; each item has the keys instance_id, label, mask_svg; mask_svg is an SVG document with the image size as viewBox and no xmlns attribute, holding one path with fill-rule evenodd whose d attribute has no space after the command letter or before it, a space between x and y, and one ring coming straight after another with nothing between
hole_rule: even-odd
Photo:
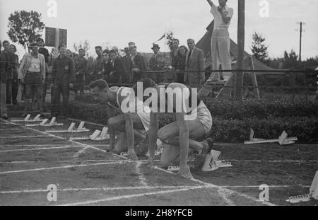
<instances>
[{"instance_id":1,"label":"white starting block right behind the nearer sprinter's foot","mask_svg":"<svg viewBox=\"0 0 318 220\"><path fill-rule=\"evenodd\" d=\"M209 154L206 154L206 161L204 161L204 166L201 170L204 172L217 170L218 168L232 167L232 163L226 161L218 161L220 156L220 151L211 150Z\"/></svg>"}]
</instances>

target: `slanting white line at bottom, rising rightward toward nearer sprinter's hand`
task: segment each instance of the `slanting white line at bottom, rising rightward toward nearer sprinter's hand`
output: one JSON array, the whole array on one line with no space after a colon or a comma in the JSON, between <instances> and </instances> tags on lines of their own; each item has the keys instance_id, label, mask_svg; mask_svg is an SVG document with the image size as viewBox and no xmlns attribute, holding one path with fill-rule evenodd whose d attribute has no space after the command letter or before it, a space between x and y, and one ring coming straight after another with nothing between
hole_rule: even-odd
<instances>
[{"instance_id":1,"label":"slanting white line at bottom, rising rightward toward nearer sprinter's hand","mask_svg":"<svg viewBox=\"0 0 318 220\"><path fill-rule=\"evenodd\" d=\"M204 186L196 186L196 187L178 189L178 190L165 190L165 191L157 191L157 192L146 192L146 193L132 194L132 195L120 195L117 197L108 197L105 199L88 200L85 202L66 203L66 204L61 204L61 206L94 204L94 203L98 203L98 202L109 202L109 201L114 201L114 200L119 200L119 199L131 199L131 198L136 198L136 197L144 197L147 195L162 195L162 194L168 194L168 193L173 193L173 192L186 192L189 190L196 190L196 189L203 189L203 188L204 188Z\"/></svg>"}]
</instances>

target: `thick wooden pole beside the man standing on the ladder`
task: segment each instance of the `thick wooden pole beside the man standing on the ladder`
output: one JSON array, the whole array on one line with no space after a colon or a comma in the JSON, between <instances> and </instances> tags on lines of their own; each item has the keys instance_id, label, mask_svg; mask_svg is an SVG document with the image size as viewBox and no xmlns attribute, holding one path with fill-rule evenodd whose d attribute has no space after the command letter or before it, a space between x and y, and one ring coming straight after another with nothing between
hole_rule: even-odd
<instances>
[{"instance_id":1,"label":"thick wooden pole beside the man standing on the ladder","mask_svg":"<svg viewBox=\"0 0 318 220\"><path fill-rule=\"evenodd\" d=\"M237 21L237 69L244 69L244 47L245 47L245 0L238 1L238 21ZM235 98L242 100L244 72L235 72Z\"/></svg>"}]
</instances>

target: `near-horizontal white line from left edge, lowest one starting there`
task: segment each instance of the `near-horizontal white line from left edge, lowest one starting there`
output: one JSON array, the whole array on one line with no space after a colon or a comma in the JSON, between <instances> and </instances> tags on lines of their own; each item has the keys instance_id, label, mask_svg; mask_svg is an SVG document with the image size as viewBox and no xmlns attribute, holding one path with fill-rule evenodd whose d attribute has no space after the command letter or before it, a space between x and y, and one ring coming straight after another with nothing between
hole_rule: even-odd
<instances>
[{"instance_id":1,"label":"near-horizontal white line from left edge, lowest one starting there","mask_svg":"<svg viewBox=\"0 0 318 220\"><path fill-rule=\"evenodd\" d=\"M156 189L184 189L191 188L193 185L183 186L141 186L141 187L94 187L94 188L66 188L57 189L60 192L68 191L112 191L112 190L156 190ZM0 194L13 194L13 193L32 193L32 192L49 192L47 189L40 190L13 190L13 191L0 191Z\"/></svg>"}]
</instances>

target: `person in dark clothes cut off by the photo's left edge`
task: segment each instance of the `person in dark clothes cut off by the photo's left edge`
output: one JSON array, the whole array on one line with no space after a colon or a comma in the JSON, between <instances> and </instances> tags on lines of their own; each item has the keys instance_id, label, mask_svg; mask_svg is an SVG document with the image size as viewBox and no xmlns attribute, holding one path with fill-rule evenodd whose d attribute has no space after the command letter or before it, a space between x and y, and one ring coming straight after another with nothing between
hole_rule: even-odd
<instances>
[{"instance_id":1,"label":"person in dark clothes cut off by the photo's left edge","mask_svg":"<svg viewBox=\"0 0 318 220\"><path fill-rule=\"evenodd\" d=\"M8 59L6 55L1 51L0 41L0 117L7 120L8 112L6 111L6 68L8 68Z\"/></svg>"}]
</instances>

